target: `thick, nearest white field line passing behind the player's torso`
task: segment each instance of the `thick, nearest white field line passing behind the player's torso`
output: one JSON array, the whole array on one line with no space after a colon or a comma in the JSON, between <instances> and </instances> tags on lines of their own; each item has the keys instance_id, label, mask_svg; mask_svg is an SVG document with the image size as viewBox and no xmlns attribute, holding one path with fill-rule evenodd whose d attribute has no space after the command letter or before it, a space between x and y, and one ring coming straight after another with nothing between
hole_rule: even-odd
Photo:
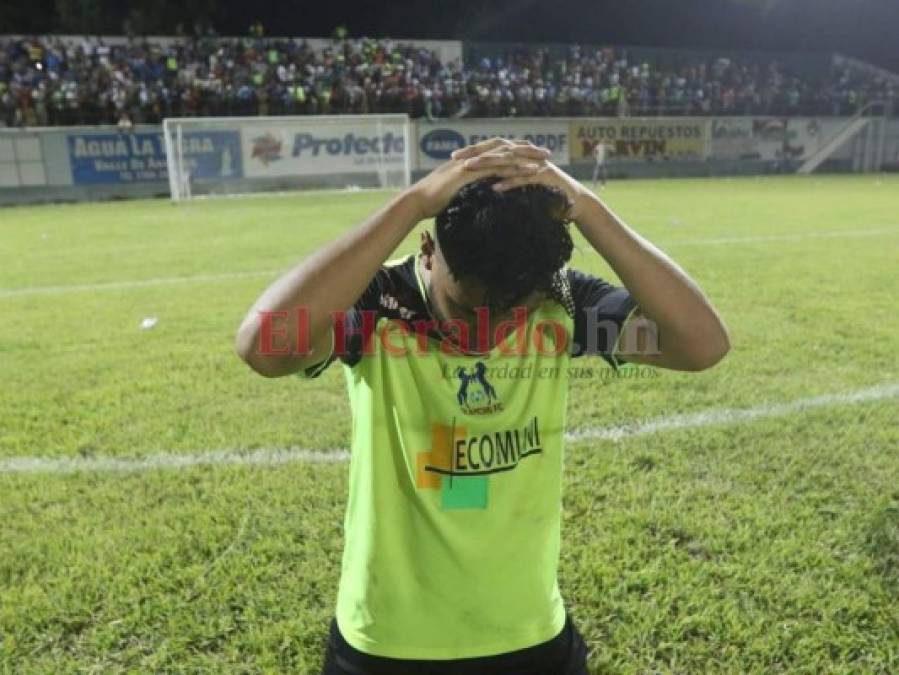
<instances>
[{"instance_id":1,"label":"thick, nearest white field line passing behind the player's torso","mask_svg":"<svg viewBox=\"0 0 899 675\"><path fill-rule=\"evenodd\" d=\"M698 413L660 417L628 425L597 427L572 431L565 435L569 442L584 440L622 441L674 429L695 429L724 424L743 424L758 419L783 417L814 408L852 405L899 397L899 382L883 384L843 394L825 394L787 403L767 403L752 408L711 408ZM308 450L303 448L262 449L251 451L216 450L197 454L160 453L145 457L11 457L0 459L0 474L68 474L76 472L145 472L156 469L183 469L193 466L238 465L277 466L304 462L323 464L345 462L345 448Z\"/></svg>"}]
</instances>

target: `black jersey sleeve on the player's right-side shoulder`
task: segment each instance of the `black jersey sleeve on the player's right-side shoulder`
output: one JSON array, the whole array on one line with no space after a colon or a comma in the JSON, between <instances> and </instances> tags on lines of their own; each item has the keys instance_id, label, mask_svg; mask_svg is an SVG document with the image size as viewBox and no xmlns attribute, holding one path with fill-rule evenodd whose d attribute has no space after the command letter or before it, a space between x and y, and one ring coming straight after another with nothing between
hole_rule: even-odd
<instances>
[{"instance_id":1,"label":"black jersey sleeve on the player's right-side shoulder","mask_svg":"<svg viewBox=\"0 0 899 675\"><path fill-rule=\"evenodd\" d=\"M637 306L628 290L577 270L568 270L574 300L573 357L602 356L612 367L624 359L614 356L621 327Z\"/></svg>"}]
</instances>

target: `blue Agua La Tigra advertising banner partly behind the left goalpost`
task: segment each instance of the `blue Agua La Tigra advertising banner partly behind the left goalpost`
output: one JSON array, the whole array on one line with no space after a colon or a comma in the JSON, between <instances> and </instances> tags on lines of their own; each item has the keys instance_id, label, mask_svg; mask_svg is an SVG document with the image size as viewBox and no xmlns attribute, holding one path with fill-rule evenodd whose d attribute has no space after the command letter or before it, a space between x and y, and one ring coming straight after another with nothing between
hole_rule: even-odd
<instances>
[{"instance_id":1,"label":"blue Agua La Tigra advertising banner partly behind the left goalpost","mask_svg":"<svg viewBox=\"0 0 899 675\"><path fill-rule=\"evenodd\" d=\"M75 185L161 183L168 180L165 144L158 132L69 134ZM185 168L195 181L241 178L237 131L192 131L182 139Z\"/></svg>"}]
</instances>

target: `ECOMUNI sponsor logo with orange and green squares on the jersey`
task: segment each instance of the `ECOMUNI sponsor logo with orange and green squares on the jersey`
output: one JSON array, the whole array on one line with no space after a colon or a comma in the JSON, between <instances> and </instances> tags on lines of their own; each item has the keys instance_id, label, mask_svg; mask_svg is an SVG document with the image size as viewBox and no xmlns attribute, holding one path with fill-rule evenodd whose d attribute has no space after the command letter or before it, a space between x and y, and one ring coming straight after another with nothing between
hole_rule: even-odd
<instances>
[{"instance_id":1,"label":"ECOMUNI sponsor logo with orange and green squares on the jersey","mask_svg":"<svg viewBox=\"0 0 899 675\"><path fill-rule=\"evenodd\" d=\"M536 415L523 427L473 435L455 423L434 424L431 448L416 454L416 487L439 490L443 509L485 509L490 474L542 452Z\"/></svg>"}]
</instances>

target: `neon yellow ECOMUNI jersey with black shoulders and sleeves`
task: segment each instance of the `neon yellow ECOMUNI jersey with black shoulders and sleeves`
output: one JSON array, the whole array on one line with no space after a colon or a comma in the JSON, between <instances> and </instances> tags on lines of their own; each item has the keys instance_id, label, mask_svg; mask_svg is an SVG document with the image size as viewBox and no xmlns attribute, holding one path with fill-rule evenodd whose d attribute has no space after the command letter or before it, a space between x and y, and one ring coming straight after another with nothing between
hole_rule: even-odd
<instances>
[{"instance_id":1,"label":"neon yellow ECOMUNI jersey with black shoulders and sleeves","mask_svg":"<svg viewBox=\"0 0 899 675\"><path fill-rule=\"evenodd\" d=\"M523 649L565 622L557 568L572 345L595 310L620 328L623 288L564 270L545 301L488 353L441 348L418 258L381 268L335 331L353 415L340 632L356 649L460 659ZM368 312L368 317L365 313ZM594 322L595 325L595 322ZM608 331L606 331L608 333ZM524 348L522 347L522 339ZM344 348L345 347L345 348Z\"/></svg>"}]
</instances>

